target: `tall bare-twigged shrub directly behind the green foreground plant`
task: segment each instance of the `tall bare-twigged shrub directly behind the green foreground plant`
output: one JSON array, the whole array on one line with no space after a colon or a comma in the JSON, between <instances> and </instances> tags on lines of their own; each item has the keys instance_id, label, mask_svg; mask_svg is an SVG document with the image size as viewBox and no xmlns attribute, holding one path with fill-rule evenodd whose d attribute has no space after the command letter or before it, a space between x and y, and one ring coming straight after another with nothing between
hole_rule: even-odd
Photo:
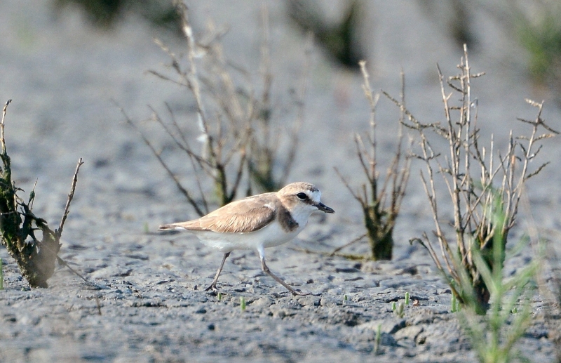
<instances>
[{"instance_id":1,"label":"tall bare-twigged shrub directly behind the green foreground plant","mask_svg":"<svg viewBox=\"0 0 561 363\"><path fill-rule=\"evenodd\" d=\"M439 257L431 238L426 233L421 239L412 239L412 241L417 241L426 247L459 302L466 304L468 298L466 291L473 289L480 307L478 311L484 313L488 308L491 286L487 286L480 268L473 260L474 250L480 252L480 256L487 261L489 269L492 270L496 263L492 251L494 251L494 244L499 241L496 236L501 236L500 242L504 250L508 232L515 225L518 204L527 180L536 176L548 164L545 162L534 169L531 168L530 162L536 159L541 150L539 142L555 136L557 131L547 126L541 118L543 103L528 100L530 105L538 109L534 120L520 119L531 126L528 135L515 137L512 132L509 133L505 152L494 145L493 136L489 147L482 147L477 103L472 99L471 81L484 73L472 73L466 46L464 46L464 57L458 67L460 74L446 81L438 68L445 110L443 124L421 123L402 102L385 94L407 115L409 122L405 122L405 126L419 133L420 152L414 156L423 161L426 166L427 174L421 172L421 182L435 222L434 235L442 253ZM450 93L447 92L445 85L450 87ZM459 96L459 105L450 103L452 95ZM454 117L455 112L457 117ZM545 132L541 133L541 130ZM429 141L431 137L445 140L449 146L446 156L433 148ZM442 221L439 213L440 195L435 186L436 173L442 176L450 195L456 246L452 245L450 237L447 236L447 223ZM498 211L505 215L500 224L496 224L493 219L493 213ZM456 256L457 253L459 257ZM501 260L502 264L503 260ZM466 279L461 278L464 269L468 271L470 286L466 286Z\"/></svg>"}]
</instances>

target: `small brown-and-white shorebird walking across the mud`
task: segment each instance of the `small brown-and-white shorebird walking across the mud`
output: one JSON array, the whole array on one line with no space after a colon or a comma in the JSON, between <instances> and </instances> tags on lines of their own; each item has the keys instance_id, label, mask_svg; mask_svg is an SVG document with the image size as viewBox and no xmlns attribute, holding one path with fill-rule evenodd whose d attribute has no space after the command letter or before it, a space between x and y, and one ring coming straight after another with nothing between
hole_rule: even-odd
<instances>
[{"instance_id":1,"label":"small brown-and-white shorebird walking across the mud","mask_svg":"<svg viewBox=\"0 0 561 363\"><path fill-rule=\"evenodd\" d=\"M161 225L160 230L187 230L203 244L224 253L215 278L205 291L217 290L218 277L231 251L257 249L263 272L285 286L292 295L307 295L292 289L269 270L265 263L265 248L296 237L314 211L335 213L320 202L320 195L318 188L310 183L292 183L276 193L257 194L231 202L195 220Z\"/></svg>"}]
</instances>

